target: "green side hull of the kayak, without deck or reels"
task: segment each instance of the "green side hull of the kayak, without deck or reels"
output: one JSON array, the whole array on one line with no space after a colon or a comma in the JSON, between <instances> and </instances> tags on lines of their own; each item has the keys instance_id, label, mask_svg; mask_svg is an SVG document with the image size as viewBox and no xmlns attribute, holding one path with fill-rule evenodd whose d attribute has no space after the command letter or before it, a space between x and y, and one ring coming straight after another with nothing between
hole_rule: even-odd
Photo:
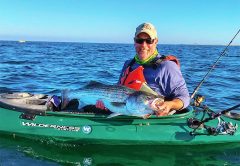
<instances>
[{"instance_id":1,"label":"green side hull of the kayak, without deck or reels","mask_svg":"<svg viewBox=\"0 0 240 166\"><path fill-rule=\"evenodd\" d=\"M142 119L133 116L107 118L72 112L33 112L0 108L0 133L13 137L67 142L74 144L106 145L198 145L240 142L240 133L234 135L197 135L189 133L187 119L194 111L171 116ZM239 123L224 117L226 121ZM216 126L217 120L208 122ZM197 130L205 133L205 129Z\"/></svg>"}]
</instances>

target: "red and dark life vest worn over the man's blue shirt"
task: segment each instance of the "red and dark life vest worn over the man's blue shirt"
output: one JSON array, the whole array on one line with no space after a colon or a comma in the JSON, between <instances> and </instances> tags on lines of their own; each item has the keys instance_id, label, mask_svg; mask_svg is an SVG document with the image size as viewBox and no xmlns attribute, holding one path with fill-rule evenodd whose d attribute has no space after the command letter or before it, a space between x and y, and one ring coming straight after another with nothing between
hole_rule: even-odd
<instances>
[{"instance_id":1,"label":"red and dark life vest worn over the man's blue shirt","mask_svg":"<svg viewBox=\"0 0 240 166\"><path fill-rule=\"evenodd\" d=\"M151 66L153 69L156 69L161 62L163 61L173 61L175 62L178 67L180 68L180 63L178 59L173 55L162 56L148 65L144 66ZM139 91L144 83L146 83L143 70L144 66L139 66L136 69L132 70L131 67L135 63L135 59L133 59L129 64L126 70L123 72L122 77L120 78L120 85L124 85L128 88L134 89Z\"/></svg>"}]
</instances>

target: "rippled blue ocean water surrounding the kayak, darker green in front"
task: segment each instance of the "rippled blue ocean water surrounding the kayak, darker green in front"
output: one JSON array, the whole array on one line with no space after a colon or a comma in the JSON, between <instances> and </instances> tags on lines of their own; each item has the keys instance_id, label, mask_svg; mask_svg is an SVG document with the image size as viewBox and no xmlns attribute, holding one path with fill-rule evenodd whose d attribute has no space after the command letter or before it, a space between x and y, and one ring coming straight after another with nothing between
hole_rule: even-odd
<instances>
[{"instance_id":1,"label":"rippled blue ocean water surrounding the kayak, darker green in front","mask_svg":"<svg viewBox=\"0 0 240 166\"><path fill-rule=\"evenodd\" d=\"M202 80L225 46L159 45L176 55L189 92ZM60 95L90 81L115 84L132 44L0 41L0 92ZM221 111L240 101L240 47L231 46L199 90ZM236 111L240 111L239 109ZM46 145L0 136L0 165L238 165L240 147Z\"/></svg>"}]
</instances>

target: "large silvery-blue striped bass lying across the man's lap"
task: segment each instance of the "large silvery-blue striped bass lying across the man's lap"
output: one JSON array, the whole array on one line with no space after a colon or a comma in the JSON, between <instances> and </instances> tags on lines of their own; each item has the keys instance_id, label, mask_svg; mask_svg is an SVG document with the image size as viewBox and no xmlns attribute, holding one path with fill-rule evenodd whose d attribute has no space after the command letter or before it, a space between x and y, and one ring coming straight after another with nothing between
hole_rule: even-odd
<instances>
[{"instance_id":1,"label":"large silvery-blue striped bass lying across the man's lap","mask_svg":"<svg viewBox=\"0 0 240 166\"><path fill-rule=\"evenodd\" d=\"M117 115L146 117L154 114L151 103L156 100L163 102L164 98L144 85L140 91L129 89L120 85L105 85L98 82L91 82L88 85L69 91L67 98L78 99L79 108L86 105L95 105L98 100L103 101L106 108Z\"/></svg>"}]
</instances>

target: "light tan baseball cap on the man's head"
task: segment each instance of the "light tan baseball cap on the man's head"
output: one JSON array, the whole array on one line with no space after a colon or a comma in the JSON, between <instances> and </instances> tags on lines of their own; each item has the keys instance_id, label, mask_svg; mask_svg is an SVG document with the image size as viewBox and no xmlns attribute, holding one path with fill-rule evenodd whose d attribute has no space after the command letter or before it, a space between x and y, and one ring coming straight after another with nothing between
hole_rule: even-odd
<instances>
[{"instance_id":1,"label":"light tan baseball cap on the man's head","mask_svg":"<svg viewBox=\"0 0 240 166\"><path fill-rule=\"evenodd\" d=\"M135 37L139 35L140 33L146 33L150 36L151 39L156 39L157 37L157 31L153 24L151 23L142 23L136 28Z\"/></svg>"}]
</instances>

